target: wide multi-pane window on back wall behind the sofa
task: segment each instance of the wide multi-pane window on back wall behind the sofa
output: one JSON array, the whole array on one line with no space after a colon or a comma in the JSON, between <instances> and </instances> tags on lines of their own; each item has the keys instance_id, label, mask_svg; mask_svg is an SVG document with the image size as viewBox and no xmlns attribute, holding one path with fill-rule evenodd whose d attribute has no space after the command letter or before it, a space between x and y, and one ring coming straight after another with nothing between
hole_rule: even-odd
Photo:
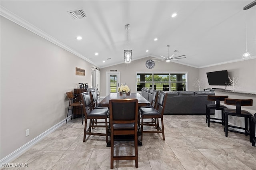
<instances>
[{"instance_id":1,"label":"wide multi-pane window on back wall behind the sofa","mask_svg":"<svg viewBox=\"0 0 256 170\"><path fill-rule=\"evenodd\" d=\"M161 91L182 91L187 87L188 73L137 73L137 91L142 87Z\"/></svg>"}]
</instances>

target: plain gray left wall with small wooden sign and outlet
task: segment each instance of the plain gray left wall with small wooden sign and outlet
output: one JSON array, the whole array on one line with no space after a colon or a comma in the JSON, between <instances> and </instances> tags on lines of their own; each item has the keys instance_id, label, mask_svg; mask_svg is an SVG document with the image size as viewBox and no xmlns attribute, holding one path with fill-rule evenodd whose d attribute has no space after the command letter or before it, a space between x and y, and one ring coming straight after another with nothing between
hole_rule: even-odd
<instances>
[{"instance_id":1,"label":"plain gray left wall with small wooden sign and outlet","mask_svg":"<svg viewBox=\"0 0 256 170\"><path fill-rule=\"evenodd\" d=\"M1 159L63 121L80 82L91 85L90 63L1 17Z\"/></svg>"}]
</instances>

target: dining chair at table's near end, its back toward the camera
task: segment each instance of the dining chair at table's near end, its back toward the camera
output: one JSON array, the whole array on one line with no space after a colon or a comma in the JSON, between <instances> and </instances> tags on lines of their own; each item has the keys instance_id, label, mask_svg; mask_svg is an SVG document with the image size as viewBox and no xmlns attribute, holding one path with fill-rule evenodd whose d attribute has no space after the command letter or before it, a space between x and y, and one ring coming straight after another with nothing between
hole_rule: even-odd
<instances>
[{"instance_id":1,"label":"dining chair at table's near end, its back toward the camera","mask_svg":"<svg viewBox=\"0 0 256 170\"><path fill-rule=\"evenodd\" d=\"M135 160L138 168L138 99L111 99L110 133L111 133L111 158L110 168L114 167L114 160ZM134 155L114 156L114 135L134 135Z\"/></svg>"}]
</instances>

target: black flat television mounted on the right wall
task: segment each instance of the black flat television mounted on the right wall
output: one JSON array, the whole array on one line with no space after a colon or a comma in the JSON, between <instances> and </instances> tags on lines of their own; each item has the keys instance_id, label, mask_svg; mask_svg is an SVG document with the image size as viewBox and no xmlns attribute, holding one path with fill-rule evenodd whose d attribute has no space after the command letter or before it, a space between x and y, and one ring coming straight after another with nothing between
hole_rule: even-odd
<instances>
[{"instance_id":1,"label":"black flat television mounted on the right wall","mask_svg":"<svg viewBox=\"0 0 256 170\"><path fill-rule=\"evenodd\" d=\"M209 85L226 85L226 83L230 83L228 70L208 72L206 74Z\"/></svg>"}]
</instances>

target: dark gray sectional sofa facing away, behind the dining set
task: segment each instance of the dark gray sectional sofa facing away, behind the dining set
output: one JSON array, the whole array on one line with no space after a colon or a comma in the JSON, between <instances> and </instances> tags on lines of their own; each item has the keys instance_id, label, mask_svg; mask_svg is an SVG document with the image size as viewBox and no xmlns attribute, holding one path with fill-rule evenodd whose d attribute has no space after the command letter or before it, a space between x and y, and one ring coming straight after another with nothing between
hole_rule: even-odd
<instances>
[{"instance_id":1,"label":"dark gray sectional sofa facing away, behind the dining set","mask_svg":"<svg viewBox=\"0 0 256 170\"><path fill-rule=\"evenodd\" d=\"M152 100L152 89L143 87L142 96L148 101ZM207 95L215 95L214 91L166 91L168 93L164 114L206 114ZM211 113L214 111L211 110Z\"/></svg>"}]
</instances>

